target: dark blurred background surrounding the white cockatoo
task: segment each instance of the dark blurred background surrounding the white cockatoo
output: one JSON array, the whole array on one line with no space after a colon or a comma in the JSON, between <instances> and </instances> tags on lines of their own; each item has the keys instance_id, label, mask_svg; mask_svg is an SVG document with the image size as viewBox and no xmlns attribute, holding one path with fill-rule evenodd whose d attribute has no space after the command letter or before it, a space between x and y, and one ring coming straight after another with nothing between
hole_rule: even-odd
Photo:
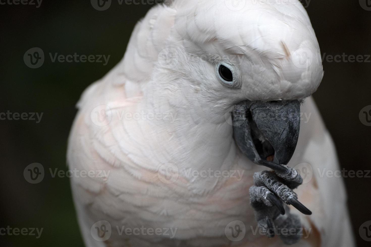
<instances>
[{"instance_id":1,"label":"dark blurred background surrounding the white cockatoo","mask_svg":"<svg viewBox=\"0 0 371 247\"><path fill-rule=\"evenodd\" d=\"M1 246L83 246L69 188L69 178L45 176L38 184L23 177L24 168L41 163L49 173L66 171L66 143L82 91L121 60L131 31L153 6L119 5L97 11L89 0L42 1L10 5L1 0L0 112L43 113L36 120L0 120L0 227L43 227L35 236L0 236ZM142 0L141 0L142 1ZM308 1L303 1L308 6ZM359 112L371 105L371 4L368 0L312 0L306 10L321 47L329 56L362 55L364 61L324 61L325 77L314 98L334 138L341 167L370 170L371 127ZM368 4L368 5L367 5ZM367 7L370 6L370 7ZM45 53L38 69L23 55L33 47ZM58 54L111 55L103 63L59 63ZM368 55L368 56L367 56ZM368 60L367 60L368 59ZM349 59L351 60L351 59ZM371 178L345 178L349 211L358 246L368 246L358 229L371 220Z\"/></svg>"}]
</instances>

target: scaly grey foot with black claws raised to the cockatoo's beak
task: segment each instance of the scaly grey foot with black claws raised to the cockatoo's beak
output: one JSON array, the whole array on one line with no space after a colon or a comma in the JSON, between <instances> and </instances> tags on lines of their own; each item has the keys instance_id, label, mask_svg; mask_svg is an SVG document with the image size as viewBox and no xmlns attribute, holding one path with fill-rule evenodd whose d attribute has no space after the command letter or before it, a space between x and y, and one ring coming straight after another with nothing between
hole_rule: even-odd
<instances>
[{"instance_id":1,"label":"scaly grey foot with black claws raised to the cockatoo's beak","mask_svg":"<svg viewBox=\"0 0 371 247\"><path fill-rule=\"evenodd\" d=\"M293 191L303 180L298 172L286 165L279 165L270 161L260 160L259 164L273 169L254 174L255 186L250 187L250 203L255 209L255 218L259 228L267 237L275 236L275 226L279 231L296 229L301 232L300 219L290 214L290 209L282 202L292 205L301 213L310 215L312 212L298 201L298 195ZM297 234L281 234L285 244L294 244L300 240Z\"/></svg>"}]
</instances>

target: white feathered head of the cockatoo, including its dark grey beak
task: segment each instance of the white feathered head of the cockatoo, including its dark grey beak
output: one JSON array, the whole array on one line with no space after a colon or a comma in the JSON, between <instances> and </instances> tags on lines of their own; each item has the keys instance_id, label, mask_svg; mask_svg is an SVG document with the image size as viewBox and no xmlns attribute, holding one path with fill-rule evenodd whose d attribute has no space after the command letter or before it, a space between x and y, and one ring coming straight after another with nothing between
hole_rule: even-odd
<instances>
[{"instance_id":1,"label":"white feathered head of the cockatoo, including its dark grey beak","mask_svg":"<svg viewBox=\"0 0 371 247\"><path fill-rule=\"evenodd\" d=\"M197 88L190 97L204 117L232 109L236 144L255 163L289 162L301 102L323 77L305 9L299 1L279 2L176 0L167 40L176 64L166 76Z\"/></svg>"}]
</instances>

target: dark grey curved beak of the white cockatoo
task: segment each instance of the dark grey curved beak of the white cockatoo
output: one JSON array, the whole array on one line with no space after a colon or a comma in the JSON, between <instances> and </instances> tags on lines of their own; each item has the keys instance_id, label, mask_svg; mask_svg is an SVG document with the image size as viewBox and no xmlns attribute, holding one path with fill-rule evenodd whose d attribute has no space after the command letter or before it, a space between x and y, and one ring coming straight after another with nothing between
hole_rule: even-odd
<instances>
[{"instance_id":1,"label":"dark grey curved beak of the white cockatoo","mask_svg":"<svg viewBox=\"0 0 371 247\"><path fill-rule=\"evenodd\" d=\"M232 119L234 140L250 160L289 163L299 137L298 100L243 101L234 106Z\"/></svg>"}]
</instances>

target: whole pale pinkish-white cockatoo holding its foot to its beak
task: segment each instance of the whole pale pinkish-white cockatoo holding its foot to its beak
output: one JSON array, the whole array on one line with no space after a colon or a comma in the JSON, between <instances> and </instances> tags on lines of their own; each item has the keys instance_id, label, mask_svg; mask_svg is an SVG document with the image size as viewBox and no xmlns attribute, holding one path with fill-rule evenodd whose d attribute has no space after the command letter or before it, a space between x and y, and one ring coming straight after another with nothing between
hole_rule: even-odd
<instances>
[{"instance_id":1,"label":"whole pale pinkish-white cockatoo holding its foot to its beak","mask_svg":"<svg viewBox=\"0 0 371 247\"><path fill-rule=\"evenodd\" d=\"M339 168L311 97L322 77L297 0L152 7L78 103L86 246L353 246L344 184L318 173Z\"/></svg>"}]
</instances>

